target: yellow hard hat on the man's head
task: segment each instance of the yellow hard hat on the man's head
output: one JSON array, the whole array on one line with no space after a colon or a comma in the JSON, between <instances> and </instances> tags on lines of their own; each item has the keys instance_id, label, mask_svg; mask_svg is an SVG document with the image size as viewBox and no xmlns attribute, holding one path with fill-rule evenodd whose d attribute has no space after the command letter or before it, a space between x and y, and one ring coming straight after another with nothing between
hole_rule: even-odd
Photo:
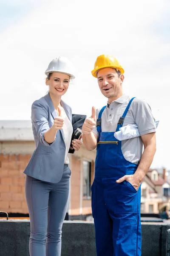
<instances>
[{"instance_id":1,"label":"yellow hard hat on the man's head","mask_svg":"<svg viewBox=\"0 0 170 256\"><path fill-rule=\"evenodd\" d=\"M91 71L92 75L94 77L97 77L97 71L105 67L115 68L116 70L119 70L121 74L124 73L124 69L115 57L113 57L112 55L103 54L97 57L96 62L94 64L94 70Z\"/></svg>"}]
</instances>

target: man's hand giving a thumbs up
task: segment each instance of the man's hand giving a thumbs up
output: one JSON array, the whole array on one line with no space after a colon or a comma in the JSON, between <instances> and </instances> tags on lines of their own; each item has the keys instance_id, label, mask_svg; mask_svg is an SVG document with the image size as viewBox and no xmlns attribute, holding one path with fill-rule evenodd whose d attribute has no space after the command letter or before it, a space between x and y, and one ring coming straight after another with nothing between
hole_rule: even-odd
<instances>
[{"instance_id":1,"label":"man's hand giving a thumbs up","mask_svg":"<svg viewBox=\"0 0 170 256\"><path fill-rule=\"evenodd\" d=\"M93 107L91 111L91 117L87 118L82 126L83 134L91 134L96 127L96 108Z\"/></svg>"}]
</instances>

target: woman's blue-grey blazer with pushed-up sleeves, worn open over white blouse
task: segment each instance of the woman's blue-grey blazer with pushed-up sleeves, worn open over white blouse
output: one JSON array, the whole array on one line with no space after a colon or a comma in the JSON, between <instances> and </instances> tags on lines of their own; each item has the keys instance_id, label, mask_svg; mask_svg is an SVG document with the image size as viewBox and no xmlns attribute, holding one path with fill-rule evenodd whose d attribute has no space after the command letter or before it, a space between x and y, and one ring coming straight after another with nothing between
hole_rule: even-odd
<instances>
[{"instance_id":1,"label":"woman's blue-grey blazer with pushed-up sleeves, worn open over white blouse","mask_svg":"<svg viewBox=\"0 0 170 256\"><path fill-rule=\"evenodd\" d=\"M72 121L71 108L63 101L61 105L68 119ZM53 143L48 144L44 140L44 134L53 125L55 117L57 117L57 111L49 93L32 104L31 120L36 149L24 171L26 175L51 183L58 183L61 180L65 159L62 130L57 131Z\"/></svg>"}]
</instances>

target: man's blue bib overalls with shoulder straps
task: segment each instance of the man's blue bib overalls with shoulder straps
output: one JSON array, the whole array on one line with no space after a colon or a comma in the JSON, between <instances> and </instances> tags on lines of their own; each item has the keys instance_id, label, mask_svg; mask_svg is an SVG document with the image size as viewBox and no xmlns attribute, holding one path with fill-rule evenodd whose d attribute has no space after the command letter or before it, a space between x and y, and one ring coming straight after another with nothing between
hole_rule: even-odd
<instances>
[{"instance_id":1,"label":"man's blue bib overalls with shoulder straps","mask_svg":"<svg viewBox=\"0 0 170 256\"><path fill-rule=\"evenodd\" d=\"M116 131L122 127L133 99L120 117ZM125 159L121 141L116 140L114 132L102 132L104 109L97 119L99 137L91 186L97 256L141 256L141 189L136 191L126 180L116 183L120 177L134 174L138 165Z\"/></svg>"}]
</instances>

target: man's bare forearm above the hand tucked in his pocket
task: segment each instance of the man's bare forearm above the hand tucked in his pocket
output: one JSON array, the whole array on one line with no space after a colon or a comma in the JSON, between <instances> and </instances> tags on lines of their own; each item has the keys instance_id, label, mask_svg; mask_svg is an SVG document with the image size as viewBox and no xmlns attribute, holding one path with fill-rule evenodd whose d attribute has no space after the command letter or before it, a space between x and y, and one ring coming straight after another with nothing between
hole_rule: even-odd
<instances>
[{"instance_id":1,"label":"man's bare forearm above the hand tucked in his pocket","mask_svg":"<svg viewBox=\"0 0 170 256\"><path fill-rule=\"evenodd\" d=\"M155 144L147 145L146 148L144 148L144 152L142 154L139 166L134 174L134 176L137 180L139 180L140 183L142 182L144 176L147 174L147 171L150 168L155 152Z\"/></svg>"}]
</instances>

